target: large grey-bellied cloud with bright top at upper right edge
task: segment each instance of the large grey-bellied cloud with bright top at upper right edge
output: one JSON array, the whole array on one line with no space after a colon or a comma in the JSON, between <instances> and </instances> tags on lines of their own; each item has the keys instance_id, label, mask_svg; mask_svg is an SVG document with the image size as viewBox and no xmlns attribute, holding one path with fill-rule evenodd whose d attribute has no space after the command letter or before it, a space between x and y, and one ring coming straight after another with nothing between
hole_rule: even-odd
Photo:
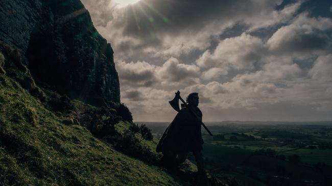
<instances>
[{"instance_id":1,"label":"large grey-bellied cloud with bright top at upper right edge","mask_svg":"<svg viewBox=\"0 0 332 186\"><path fill-rule=\"evenodd\" d=\"M332 28L332 19L308 18L300 14L290 25L282 26L267 41L269 49L279 54L303 54L325 51L330 37L321 31Z\"/></svg>"}]
</instances>

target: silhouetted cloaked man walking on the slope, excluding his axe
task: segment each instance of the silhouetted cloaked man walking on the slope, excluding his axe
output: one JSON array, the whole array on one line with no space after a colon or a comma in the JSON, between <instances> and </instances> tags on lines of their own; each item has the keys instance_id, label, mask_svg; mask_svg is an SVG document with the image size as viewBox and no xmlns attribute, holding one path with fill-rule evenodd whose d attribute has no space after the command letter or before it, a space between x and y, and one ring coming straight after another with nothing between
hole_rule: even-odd
<instances>
[{"instance_id":1,"label":"silhouetted cloaked man walking on the slope, excluding his axe","mask_svg":"<svg viewBox=\"0 0 332 186\"><path fill-rule=\"evenodd\" d=\"M186 160L187 154L192 151L197 162L198 176L200 179L206 179L202 154L202 112L197 107L198 93L189 94L186 102L187 106L178 112L164 131L156 151L163 153L160 163L165 167L176 167L182 164Z\"/></svg>"}]
</instances>

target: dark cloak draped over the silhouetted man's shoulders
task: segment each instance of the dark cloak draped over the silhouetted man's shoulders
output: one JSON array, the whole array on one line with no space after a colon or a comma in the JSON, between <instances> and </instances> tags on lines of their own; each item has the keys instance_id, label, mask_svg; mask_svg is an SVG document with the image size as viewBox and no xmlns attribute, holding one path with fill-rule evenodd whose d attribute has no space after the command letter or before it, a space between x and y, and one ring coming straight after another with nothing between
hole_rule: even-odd
<instances>
[{"instance_id":1,"label":"dark cloak draped over the silhouetted man's shoulders","mask_svg":"<svg viewBox=\"0 0 332 186\"><path fill-rule=\"evenodd\" d=\"M201 121L202 112L198 107L192 108L199 119L183 107L175 116L159 139L157 152L183 152L202 150Z\"/></svg>"}]
</instances>

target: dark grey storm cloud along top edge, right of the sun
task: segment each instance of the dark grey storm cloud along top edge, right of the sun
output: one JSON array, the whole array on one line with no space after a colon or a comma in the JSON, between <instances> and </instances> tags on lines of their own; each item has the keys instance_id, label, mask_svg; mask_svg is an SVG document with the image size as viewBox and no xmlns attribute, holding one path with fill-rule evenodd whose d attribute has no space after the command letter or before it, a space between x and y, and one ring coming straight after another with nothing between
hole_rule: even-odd
<instances>
[{"instance_id":1,"label":"dark grey storm cloud along top edge, right of the sun","mask_svg":"<svg viewBox=\"0 0 332 186\"><path fill-rule=\"evenodd\" d=\"M125 35L138 38L150 38L154 33L178 35L187 30L195 34L212 22L258 15L263 10L272 11L275 5L273 1L143 0L126 8L121 22L126 22Z\"/></svg>"}]
</instances>

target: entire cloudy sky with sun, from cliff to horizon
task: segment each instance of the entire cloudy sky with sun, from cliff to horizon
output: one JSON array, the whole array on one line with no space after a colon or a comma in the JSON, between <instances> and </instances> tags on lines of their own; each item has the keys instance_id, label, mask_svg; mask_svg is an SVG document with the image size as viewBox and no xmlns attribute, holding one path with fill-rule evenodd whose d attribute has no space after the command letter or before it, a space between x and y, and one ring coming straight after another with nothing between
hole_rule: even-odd
<instances>
[{"instance_id":1,"label":"entire cloudy sky with sun, from cliff to horizon","mask_svg":"<svg viewBox=\"0 0 332 186\"><path fill-rule=\"evenodd\" d=\"M134 121L332 120L332 1L82 0L112 45Z\"/></svg>"}]
</instances>

